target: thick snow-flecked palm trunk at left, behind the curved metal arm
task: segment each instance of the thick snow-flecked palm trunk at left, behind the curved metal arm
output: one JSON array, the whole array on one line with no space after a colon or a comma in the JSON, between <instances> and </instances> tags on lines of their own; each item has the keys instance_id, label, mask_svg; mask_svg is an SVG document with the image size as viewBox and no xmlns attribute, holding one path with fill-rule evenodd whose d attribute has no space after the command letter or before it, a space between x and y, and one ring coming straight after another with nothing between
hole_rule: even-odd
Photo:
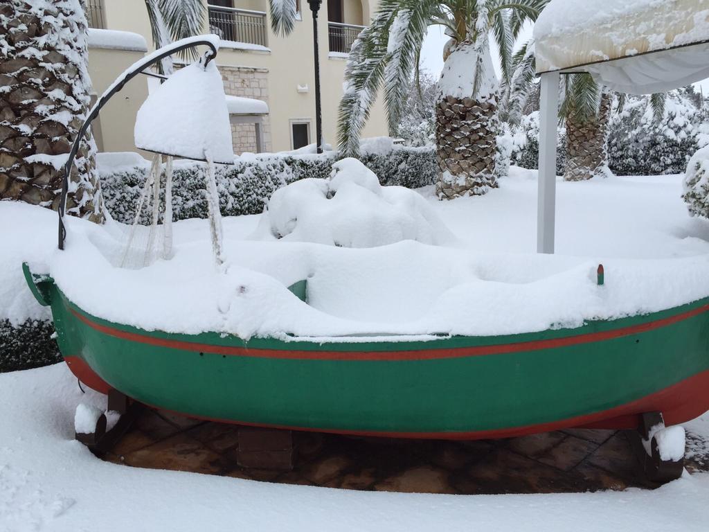
<instances>
[{"instance_id":1,"label":"thick snow-flecked palm trunk at left, behind the curved metal arm","mask_svg":"<svg viewBox=\"0 0 709 532\"><path fill-rule=\"evenodd\" d=\"M57 209L67 153L91 103L79 0L0 6L0 199ZM71 174L67 212L103 220L91 134Z\"/></svg>"}]
</instances>

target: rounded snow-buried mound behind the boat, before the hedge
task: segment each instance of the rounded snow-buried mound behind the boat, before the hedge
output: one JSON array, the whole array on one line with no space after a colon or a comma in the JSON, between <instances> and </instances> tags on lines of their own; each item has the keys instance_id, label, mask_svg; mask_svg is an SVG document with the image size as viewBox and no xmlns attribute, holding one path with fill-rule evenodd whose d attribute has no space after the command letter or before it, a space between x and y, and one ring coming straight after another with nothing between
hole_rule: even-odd
<instances>
[{"instance_id":1,"label":"rounded snow-buried mound behind the boat, before the hedge","mask_svg":"<svg viewBox=\"0 0 709 532\"><path fill-rule=\"evenodd\" d=\"M372 170L352 158L336 162L329 180L302 179L278 189L262 224L279 239L342 248L454 241L420 194L382 187Z\"/></svg>"}]
</instances>

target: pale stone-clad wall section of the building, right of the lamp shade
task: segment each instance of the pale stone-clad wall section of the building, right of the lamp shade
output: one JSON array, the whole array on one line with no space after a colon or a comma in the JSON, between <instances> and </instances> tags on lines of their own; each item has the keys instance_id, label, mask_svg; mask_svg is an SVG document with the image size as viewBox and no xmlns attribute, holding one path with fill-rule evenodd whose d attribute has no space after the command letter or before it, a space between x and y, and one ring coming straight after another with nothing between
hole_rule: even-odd
<instances>
[{"instance_id":1,"label":"pale stone-clad wall section of the building, right of the lamp shade","mask_svg":"<svg viewBox=\"0 0 709 532\"><path fill-rule=\"evenodd\" d=\"M224 80L224 91L232 96L245 96L269 103L268 70L253 67L219 65ZM252 124L232 124L234 153L256 152L256 133ZM264 149L272 150L271 117L264 117Z\"/></svg>"}]
</instances>

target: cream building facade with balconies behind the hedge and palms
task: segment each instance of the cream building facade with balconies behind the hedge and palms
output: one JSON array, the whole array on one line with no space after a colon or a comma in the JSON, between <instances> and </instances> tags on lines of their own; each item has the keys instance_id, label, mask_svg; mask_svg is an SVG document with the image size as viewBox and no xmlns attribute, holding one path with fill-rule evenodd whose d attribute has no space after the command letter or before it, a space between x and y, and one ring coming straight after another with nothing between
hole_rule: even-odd
<instances>
[{"instance_id":1,"label":"cream building facade with balconies behind the hedge and palms","mask_svg":"<svg viewBox=\"0 0 709 532\"><path fill-rule=\"evenodd\" d=\"M270 27L268 0L203 0L208 11L204 33L222 38L217 65L226 94L265 101L263 120L266 151L286 151L316 142L313 18L306 0L293 0L298 20L291 35L276 35ZM128 65L153 49L145 0L86 0L89 35L89 72L96 94L108 87ZM347 52L364 24L369 23L376 0L324 0L318 16L320 78L325 143L337 145L337 109L342 97ZM130 32L134 38L123 33ZM98 37L96 35L99 35ZM142 40L140 37L142 37ZM107 44L108 43L108 44ZM147 82L121 92L123 99L101 114L97 137L105 151L133 148L135 113L147 96ZM256 135L250 124L233 124L235 153L255 152ZM381 101L372 109L363 136L387 134Z\"/></svg>"}]
</instances>

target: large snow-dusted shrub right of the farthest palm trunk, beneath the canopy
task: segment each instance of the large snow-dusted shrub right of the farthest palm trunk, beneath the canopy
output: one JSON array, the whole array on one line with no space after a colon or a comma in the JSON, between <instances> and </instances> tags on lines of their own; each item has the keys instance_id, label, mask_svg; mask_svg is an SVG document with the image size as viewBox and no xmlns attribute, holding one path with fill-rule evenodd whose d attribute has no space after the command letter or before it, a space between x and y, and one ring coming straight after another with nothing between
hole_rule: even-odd
<instances>
[{"instance_id":1,"label":"large snow-dusted shrub right of the farthest palm trunk, beneath the canopy","mask_svg":"<svg viewBox=\"0 0 709 532\"><path fill-rule=\"evenodd\" d=\"M608 125L610 170L618 175L680 174L707 144L709 113L680 92L667 94L664 117L656 120L647 96L629 96Z\"/></svg>"}]
</instances>

